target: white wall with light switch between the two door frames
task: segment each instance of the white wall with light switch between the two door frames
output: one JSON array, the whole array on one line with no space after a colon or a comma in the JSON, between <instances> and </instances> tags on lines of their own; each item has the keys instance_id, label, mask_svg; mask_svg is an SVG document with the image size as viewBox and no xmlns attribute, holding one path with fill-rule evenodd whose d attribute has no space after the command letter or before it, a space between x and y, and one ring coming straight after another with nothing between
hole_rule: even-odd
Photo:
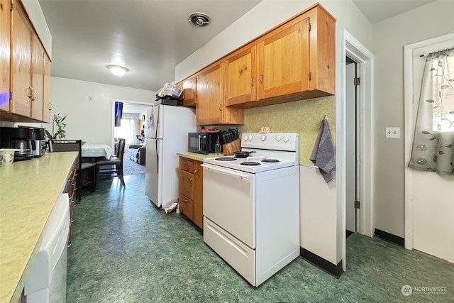
<instances>
[{"instance_id":1,"label":"white wall with light switch between the two door frames","mask_svg":"<svg viewBox=\"0 0 454 303\"><path fill-rule=\"evenodd\" d=\"M404 45L454 31L454 1L438 0L373 27L375 228L404 238ZM398 126L401 138L384 138Z\"/></svg>"}]
</instances>

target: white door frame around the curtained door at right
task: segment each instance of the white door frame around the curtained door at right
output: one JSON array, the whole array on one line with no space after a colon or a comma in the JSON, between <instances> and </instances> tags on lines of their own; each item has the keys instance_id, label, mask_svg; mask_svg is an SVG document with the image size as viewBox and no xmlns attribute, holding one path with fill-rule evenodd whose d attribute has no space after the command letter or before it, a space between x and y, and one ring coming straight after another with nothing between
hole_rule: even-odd
<instances>
[{"instance_id":1,"label":"white door frame around the curtained door at right","mask_svg":"<svg viewBox=\"0 0 454 303\"><path fill-rule=\"evenodd\" d=\"M413 104L413 50L436 43L443 43L454 39L454 33L441 35L436 38L423 40L404 46L404 125L405 125L405 248L414 248L414 171L406 166L410 161L411 145L414 131L414 104Z\"/></svg>"}]
</instances>

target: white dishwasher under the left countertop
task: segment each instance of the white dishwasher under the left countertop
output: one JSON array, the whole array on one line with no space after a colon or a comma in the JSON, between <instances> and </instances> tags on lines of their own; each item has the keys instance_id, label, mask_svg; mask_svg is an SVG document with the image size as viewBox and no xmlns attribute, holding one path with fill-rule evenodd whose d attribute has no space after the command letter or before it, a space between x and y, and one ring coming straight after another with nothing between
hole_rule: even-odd
<instances>
[{"instance_id":1,"label":"white dishwasher under the left countertop","mask_svg":"<svg viewBox=\"0 0 454 303\"><path fill-rule=\"evenodd\" d=\"M26 280L28 303L66 302L69 230L70 202L68 194L60 194L43 228L43 243Z\"/></svg>"}]
</instances>

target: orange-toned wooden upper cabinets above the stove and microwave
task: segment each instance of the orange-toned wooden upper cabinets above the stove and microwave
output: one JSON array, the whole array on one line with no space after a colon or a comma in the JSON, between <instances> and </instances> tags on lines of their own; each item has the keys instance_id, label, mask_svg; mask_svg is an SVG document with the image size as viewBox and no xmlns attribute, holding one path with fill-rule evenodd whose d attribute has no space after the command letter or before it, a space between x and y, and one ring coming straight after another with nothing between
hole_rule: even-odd
<instances>
[{"instance_id":1,"label":"orange-toned wooden upper cabinets above the stove and microwave","mask_svg":"<svg viewBox=\"0 0 454 303\"><path fill-rule=\"evenodd\" d=\"M197 124L242 124L234 109L335 94L335 23L316 4L196 73Z\"/></svg>"}]
</instances>

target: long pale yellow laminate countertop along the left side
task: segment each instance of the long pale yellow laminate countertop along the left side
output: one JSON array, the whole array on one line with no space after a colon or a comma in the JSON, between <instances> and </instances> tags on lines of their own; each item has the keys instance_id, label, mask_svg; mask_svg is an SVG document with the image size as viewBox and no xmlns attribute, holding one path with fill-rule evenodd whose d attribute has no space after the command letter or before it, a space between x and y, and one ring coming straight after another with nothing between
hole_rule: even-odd
<instances>
[{"instance_id":1,"label":"long pale yellow laminate countertop along the left side","mask_svg":"<svg viewBox=\"0 0 454 303\"><path fill-rule=\"evenodd\" d=\"M0 165L0 303L18 301L77 152Z\"/></svg>"}]
</instances>

